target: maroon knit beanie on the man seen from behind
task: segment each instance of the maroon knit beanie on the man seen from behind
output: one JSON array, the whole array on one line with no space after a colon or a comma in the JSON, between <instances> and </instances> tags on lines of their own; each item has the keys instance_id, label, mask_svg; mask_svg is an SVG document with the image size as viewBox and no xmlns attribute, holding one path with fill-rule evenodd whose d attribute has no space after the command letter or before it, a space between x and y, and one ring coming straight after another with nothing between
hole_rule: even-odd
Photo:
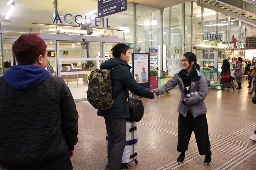
<instances>
[{"instance_id":1,"label":"maroon knit beanie on the man seen from behind","mask_svg":"<svg viewBox=\"0 0 256 170\"><path fill-rule=\"evenodd\" d=\"M12 45L12 51L20 65L35 61L39 55L44 55L46 43L36 34L23 34Z\"/></svg>"}]
</instances>

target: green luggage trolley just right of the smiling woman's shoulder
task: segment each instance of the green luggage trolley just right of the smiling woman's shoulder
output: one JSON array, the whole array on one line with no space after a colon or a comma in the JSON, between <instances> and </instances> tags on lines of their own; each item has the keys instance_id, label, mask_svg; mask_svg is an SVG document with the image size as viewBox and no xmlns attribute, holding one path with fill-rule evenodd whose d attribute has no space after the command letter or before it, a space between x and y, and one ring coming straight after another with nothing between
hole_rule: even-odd
<instances>
[{"instance_id":1,"label":"green luggage trolley just right of the smiling woman's shoulder","mask_svg":"<svg viewBox=\"0 0 256 170\"><path fill-rule=\"evenodd\" d=\"M221 86L221 84L218 83L218 73L219 71L214 71L213 69L211 68L208 68L208 67L203 67L204 70L202 70L202 73L204 74L204 77L206 78L207 80L207 85L208 87L210 86L211 89L212 87L217 87L217 86ZM214 79L214 74L217 74L217 78Z\"/></svg>"}]
</instances>

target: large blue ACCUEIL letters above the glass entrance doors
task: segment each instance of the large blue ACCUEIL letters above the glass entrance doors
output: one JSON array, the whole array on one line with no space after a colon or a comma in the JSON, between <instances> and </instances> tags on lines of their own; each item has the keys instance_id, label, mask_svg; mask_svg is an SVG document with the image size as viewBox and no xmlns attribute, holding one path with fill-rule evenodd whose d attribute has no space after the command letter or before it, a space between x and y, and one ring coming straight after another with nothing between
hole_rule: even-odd
<instances>
[{"instance_id":1,"label":"large blue ACCUEIL letters above the glass entrance doors","mask_svg":"<svg viewBox=\"0 0 256 170\"><path fill-rule=\"evenodd\" d=\"M67 20L68 17L73 17L73 16L72 16L72 14L66 14L64 16L64 21L66 22L66 24L72 24L73 21L68 22L68 20ZM77 22L77 20L80 19L80 18L82 18L81 15L76 15L74 17L74 22L77 25L81 25L82 24L82 22L81 23ZM98 25L100 23L100 21L97 20L97 19L98 19L98 17L94 18L94 25L95 26L100 26L100 25ZM84 20L85 20L85 24L86 25L90 26L92 24L92 17L89 17L89 21L88 21L88 18L86 16L84 16ZM56 21L60 21L60 23L62 24L62 20L60 19L60 15L58 14L58 12L57 12L56 16L54 17L53 23L56 22ZM108 18L106 18L106 25L107 25L106 26L107 28L110 28L110 26L108 26ZM104 27L104 18L102 18L102 27Z\"/></svg>"}]
</instances>

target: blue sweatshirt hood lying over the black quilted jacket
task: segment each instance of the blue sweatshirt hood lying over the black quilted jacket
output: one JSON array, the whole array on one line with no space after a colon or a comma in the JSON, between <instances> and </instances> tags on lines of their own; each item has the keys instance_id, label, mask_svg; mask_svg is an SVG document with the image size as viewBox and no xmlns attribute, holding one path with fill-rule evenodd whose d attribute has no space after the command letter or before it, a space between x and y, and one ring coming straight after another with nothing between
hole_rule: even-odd
<instances>
[{"instance_id":1,"label":"blue sweatshirt hood lying over the black quilted jacket","mask_svg":"<svg viewBox=\"0 0 256 170\"><path fill-rule=\"evenodd\" d=\"M4 80L14 89L26 91L42 83L50 71L36 65L14 65L4 73Z\"/></svg>"}]
</instances>

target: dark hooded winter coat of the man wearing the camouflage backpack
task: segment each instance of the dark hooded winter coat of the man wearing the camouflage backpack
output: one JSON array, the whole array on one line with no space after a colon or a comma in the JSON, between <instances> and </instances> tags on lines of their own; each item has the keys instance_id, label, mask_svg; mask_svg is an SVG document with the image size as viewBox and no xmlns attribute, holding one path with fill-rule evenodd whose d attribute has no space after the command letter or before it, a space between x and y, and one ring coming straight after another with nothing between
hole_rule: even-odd
<instances>
[{"instance_id":1,"label":"dark hooded winter coat of the man wearing the camouflage backpack","mask_svg":"<svg viewBox=\"0 0 256 170\"><path fill-rule=\"evenodd\" d=\"M154 93L142 88L132 77L130 65L118 58L108 59L100 65L100 69L111 69L115 66L122 65L111 71L112 80L112 98L116 98L112 107L105 111L98 110L98 115L106 118L129 118L129 97L128 90L140 97L149 99L154 98ZM121 92L121 90L123 92ZM117 96L116 96L117 95Z\"/></svg>"}]
</instances>

